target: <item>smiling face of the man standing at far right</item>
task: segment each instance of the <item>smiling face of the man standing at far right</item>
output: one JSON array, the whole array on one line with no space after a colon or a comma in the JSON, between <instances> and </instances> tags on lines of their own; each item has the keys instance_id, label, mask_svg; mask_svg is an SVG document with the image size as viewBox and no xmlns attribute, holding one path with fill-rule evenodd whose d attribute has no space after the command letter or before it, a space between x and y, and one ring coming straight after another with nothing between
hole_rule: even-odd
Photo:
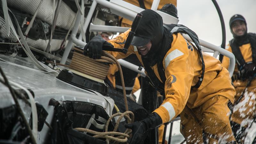
<instances>
[{"instance_id":1,"label":"smiling face of the man standing at far right","mask_svg":"<svg viewBox=\"0 0 256 144\"><path fill-rule=\"evenodd\" d=\"M236 36L243 36L246 32L246 25L242 20L236 20L232 24L232 31Z\"/></svg>"}]
</instances>

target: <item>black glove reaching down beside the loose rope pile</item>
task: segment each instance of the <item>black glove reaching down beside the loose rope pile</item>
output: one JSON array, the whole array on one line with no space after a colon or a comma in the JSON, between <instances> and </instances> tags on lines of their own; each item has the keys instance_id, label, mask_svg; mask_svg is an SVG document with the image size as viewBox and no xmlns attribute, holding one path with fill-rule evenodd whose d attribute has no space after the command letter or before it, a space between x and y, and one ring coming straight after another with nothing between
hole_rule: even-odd
<instances>
[{"instance_id":1,"label":"black glove reaching down beside the loose rope pile","mask_svg":"<svg viewBox=\"0 0 256 144\"><path fill-rule=\"evenodd\" d=\"M145 139L145 132L149 129L156 128L160 124L162 124L161 117L157 113L153 112L140 122L125 124L124 126L128 129L132 129L132 140L130 144L140 144Z\"/></svg>"}]
</instances>

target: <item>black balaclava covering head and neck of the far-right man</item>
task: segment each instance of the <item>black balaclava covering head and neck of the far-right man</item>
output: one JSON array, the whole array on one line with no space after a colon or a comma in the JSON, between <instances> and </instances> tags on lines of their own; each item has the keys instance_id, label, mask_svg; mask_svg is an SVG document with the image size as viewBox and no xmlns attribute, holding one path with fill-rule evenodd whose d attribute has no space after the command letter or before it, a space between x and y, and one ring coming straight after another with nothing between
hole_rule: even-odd
<instances>
[{"instance_id":1,"label":"black balaclava covering head and neck of the far-right man","mask_svg":"<svg viewBox=\"0 0 256 144\"><path fill-rule=\"evenodd\" d=\"M245 26L246 26L246 30L245 30L245 33L243 36L236 36L236 34L233 32L232 30L232 24L236 21L236 20L242 20L244 21L245 23ZM230 28L230 31L234 37L234 40L235 42L238 44L238 45L243 45L243 44L247 44L249 43L249 40L248 40L248 35L247 35L247 24L246 24L246 20L244 19L244 17L240 14L235 14L233 15L230 20L229 20L229 28Z\"/></svg>"}]
</instances>

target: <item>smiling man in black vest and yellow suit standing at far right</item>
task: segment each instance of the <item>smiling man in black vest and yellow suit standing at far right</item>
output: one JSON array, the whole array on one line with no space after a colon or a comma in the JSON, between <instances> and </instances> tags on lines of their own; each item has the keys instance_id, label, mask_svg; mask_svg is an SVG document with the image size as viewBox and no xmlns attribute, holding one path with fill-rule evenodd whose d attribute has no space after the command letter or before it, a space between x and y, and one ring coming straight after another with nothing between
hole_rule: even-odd
<instances>
[{"instance_id":1,"label":"smiling man in black vest and yellow suit standing at far right","mask_svg":"<svg viewBox=\"0 0 256 144\"><path fill-rule=\"evenodd\" d=\"M250 127L256 116L256 34L247 33L247 24L242 15L236 14L229 21L233 39L227 50L236 57L232 81L236 89L235 102L230 119L234 136L243 143L245 129ZM229 59L223 58L222 66L228 68Z\"/></svg>"}]
</instances>

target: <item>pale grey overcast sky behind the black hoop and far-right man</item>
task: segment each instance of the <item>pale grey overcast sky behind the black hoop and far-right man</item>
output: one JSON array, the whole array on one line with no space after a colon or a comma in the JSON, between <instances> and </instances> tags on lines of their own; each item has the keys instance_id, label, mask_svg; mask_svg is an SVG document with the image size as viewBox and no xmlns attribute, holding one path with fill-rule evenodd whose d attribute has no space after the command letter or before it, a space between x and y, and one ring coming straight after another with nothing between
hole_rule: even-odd
<instances>
[{"instance_id":1,"label":"pale grey overcast sky behind the black hoop and far-right man","mask_svg":"<svg viewBox=\"0 0 256 144\"><path fill-rule=\"evenodd\" d=\"M233 38L229 20L241 14L247 22L247 31L256 33L256 0L217 0L226 27L226 44ZM179 24L196 32L204 41L220 46L222 33L218 12L211 0L177 0Z\"/></svg>"}]
</instances>

